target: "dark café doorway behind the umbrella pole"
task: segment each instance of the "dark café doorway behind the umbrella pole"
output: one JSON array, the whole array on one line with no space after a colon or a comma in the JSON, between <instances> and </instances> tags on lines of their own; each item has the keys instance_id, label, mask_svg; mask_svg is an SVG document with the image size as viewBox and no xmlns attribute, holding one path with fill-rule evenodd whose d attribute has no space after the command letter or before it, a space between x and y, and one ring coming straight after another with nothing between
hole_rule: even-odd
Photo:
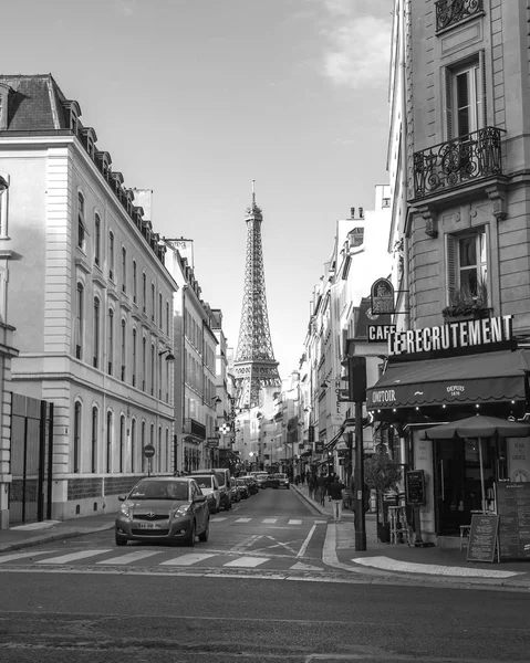
<instances>
[{"instance_id":1,"label":"dark caf\u00e9 doorway behind the umbrella pole","mask_svg":"<svg viewBox=\"0 0 530 663\"><path fill-rule=\"evenodd\" d=\"M478 440L438 440L433 442L435 459L436 532L458 535L460 525L469 525L471 513L481 509L480 459ZM482 440L486 506L492 507L493 482L499 441Z\"/></svg>"}]
</instances>

